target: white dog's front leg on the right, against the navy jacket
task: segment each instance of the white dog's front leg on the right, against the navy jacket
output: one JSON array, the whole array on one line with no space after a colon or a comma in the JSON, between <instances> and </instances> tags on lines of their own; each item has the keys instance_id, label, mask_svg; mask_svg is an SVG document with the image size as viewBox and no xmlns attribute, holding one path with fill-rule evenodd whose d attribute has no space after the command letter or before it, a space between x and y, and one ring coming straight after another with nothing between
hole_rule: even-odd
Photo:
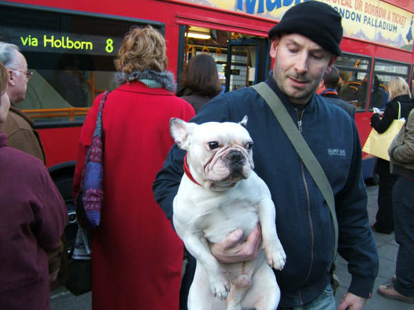
<instances>
[{"instance_id":1,"label":"white dog's front leg on the right, against the navy jacket","mask_svg":"<svg viewBox=\"0 0 414 310\"><path fill-rule=\"evenodd\" d=\"M273 200L270 197L260 200L258 209L266 261L270 267L282 270L286 262L286 254L277 237L276 209Z\"/></svg>"}]
</instances>

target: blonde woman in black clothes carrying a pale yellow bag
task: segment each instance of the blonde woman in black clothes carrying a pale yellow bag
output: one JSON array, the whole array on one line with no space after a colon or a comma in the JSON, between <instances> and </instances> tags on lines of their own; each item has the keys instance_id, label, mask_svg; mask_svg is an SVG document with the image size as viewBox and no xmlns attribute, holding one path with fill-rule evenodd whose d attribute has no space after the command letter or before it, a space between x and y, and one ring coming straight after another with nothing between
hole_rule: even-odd
<instances>
[{"instance_id":1,"label":"blonde woman in black clothes carrying a pale yellow bag","mask_svg":"<svg viewBox=\"0 0 414 310\"><path fill-rule=\"evenodd\" d=\"M371 127L382 134L395 119L400 117L407 118L413 107L411 94L408 84L402 77L395 76L388 83L388 91L391 101L386 104L384 113L374 113L371 116ZM399 112L400 111L400 112ZM378 187L378 211L376 222L371 225L373 231L382 234L391 234L394 230L393 223L393 187L396 176L390 173L390 162L382 158L377 158L375 173L380 177Z\"/></svg>"}]
</instances>

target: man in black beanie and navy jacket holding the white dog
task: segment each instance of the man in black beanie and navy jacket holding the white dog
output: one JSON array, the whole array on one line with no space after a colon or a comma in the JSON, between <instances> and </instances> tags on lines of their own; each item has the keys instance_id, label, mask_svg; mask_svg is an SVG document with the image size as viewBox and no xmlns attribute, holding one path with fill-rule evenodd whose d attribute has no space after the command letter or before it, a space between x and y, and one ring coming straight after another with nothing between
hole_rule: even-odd
<instances>
[{"instance_id":1,"label":"man in black beanie and navy jacket holding the white dog","mask_svg":"<svg viewBox=\"0 0 414 310\"><path fill-rule=\"evenodd\" d=\"M378 258L368 223L361 175L361 145L355 122L342 108L315 95L325 72L341 54L340 15L325 3L306 1L290 8L270 29L275 60L267 85L279 96L329 180L339 225L339 254L348 261L351 285L337 307L362 309L371 296ZM200 110L195 123L239 122L248 116L255 172L265 181L276 208L276 227L286 265L275 271L279 309L336 309L330 284L335 234L324 196L304 166L270 107L252 88L221 94ZM183 174L184 155L172 147L154 183L155 199L168 218ZM259 229L247 240L237 229L211 245L221 262L251 260L261 241ZM185 285L183 285L184 287Z\"/></svg>"}]
</instances>

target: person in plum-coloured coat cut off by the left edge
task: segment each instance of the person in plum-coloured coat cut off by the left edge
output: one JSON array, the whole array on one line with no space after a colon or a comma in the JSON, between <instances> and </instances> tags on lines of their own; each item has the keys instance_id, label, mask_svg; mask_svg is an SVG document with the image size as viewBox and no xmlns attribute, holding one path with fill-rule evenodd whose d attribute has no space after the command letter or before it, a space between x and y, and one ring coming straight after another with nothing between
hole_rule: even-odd
<instances>
[{"instance_id":1,"label":"person in plum-coloured coat cut off by the left edge","mask_svg":"<svg viewBox=\"0 0 414 310\"><path fill-rule=\"evenodd\" d=\"M0 123L10 99L0 63ZM0 308L50 309L47 251L56 249L66 205L38 158L7 146L0 131Z\"/></svg>"}]
</instances>

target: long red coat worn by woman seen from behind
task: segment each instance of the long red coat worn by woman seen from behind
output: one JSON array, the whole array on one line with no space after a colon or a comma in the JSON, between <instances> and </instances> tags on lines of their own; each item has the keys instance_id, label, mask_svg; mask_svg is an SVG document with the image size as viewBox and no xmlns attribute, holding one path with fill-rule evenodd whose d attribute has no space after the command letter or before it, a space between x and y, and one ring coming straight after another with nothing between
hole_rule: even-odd
<instances>
[{"instance_id":1,"label":"long red coat worn by woman seen from behind","mask_svg":"<svg viewBox=\"0 0 414 310\"><path fill-rule=\"evenodd\" d=\"M79 141L74 195L101 95ZM103 108L105 205L92 236L92 309L179 309L183 244L155 202L152 183L173 140L170 118L193 107L163 88L126 83Z\"/></svg>"}]
</instances>

